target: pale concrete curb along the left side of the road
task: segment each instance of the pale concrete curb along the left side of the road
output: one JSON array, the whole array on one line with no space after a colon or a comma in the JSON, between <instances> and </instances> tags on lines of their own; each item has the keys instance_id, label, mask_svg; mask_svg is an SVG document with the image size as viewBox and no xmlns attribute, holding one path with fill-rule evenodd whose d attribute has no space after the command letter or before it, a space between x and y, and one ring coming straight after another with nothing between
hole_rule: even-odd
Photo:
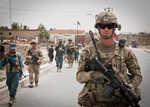
<instances>
[{"instance_id":1,"label":"pale concrete curb along the left side of the road","mask_svg":"<svg viewBox=\"0 0 150 107\"><path fill-rule=\"evenodd\" d=\"M40 68L40 77L42 75L44 75L45 73L50 72L51 67L54 67L55 64L44 64L42 65ZM25 71L27 73L27 71ZM29 76L27 76L26 78L23 78L20 82L19 82L19 86L18 86L18 90L19 88L25 86L26 84L29 83ZM3 100L4 98L9 96L9 92L8 92L8 87L6 86L6 81L3 81L3 86L0 88L0 100Z\"/></svg>"}]
</instances>

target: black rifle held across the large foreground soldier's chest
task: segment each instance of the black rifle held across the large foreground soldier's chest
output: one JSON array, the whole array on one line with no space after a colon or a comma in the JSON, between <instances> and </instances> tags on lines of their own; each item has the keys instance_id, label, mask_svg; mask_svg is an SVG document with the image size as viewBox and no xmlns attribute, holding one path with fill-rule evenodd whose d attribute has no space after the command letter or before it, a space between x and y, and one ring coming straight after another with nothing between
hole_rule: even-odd
<instances>
[{"instance_id":1,"label":"black rifle held across the large foreground soldier's chest","mask_svg":"<svg viewBox=\"0 0 150 107\"><path fill-rule=\"evenodd\" d=\"M92 31L89 31L90 37L92 39L94 48L97 53L98 58L93 58L91 60L91 64L95 66L96 70L101 72L104 76L106 76L109 79L109 84L107 85L106 90L104 90L104 96L108 97L113 90L118 89L120 94L122 94L125 98L126 101L129 103L130 106L132 107L140 107L138 102L141 100L139 96L136 95L135 92L130 90L128 86L124 84L123 81L119 80L113 73L112 73L112 65L109 65L109 68L107 69L102 63L101 63L101 58L99 56L98 48L96 46L96 43L94 41L94 35Z\"/></svg>"}]
</instances>

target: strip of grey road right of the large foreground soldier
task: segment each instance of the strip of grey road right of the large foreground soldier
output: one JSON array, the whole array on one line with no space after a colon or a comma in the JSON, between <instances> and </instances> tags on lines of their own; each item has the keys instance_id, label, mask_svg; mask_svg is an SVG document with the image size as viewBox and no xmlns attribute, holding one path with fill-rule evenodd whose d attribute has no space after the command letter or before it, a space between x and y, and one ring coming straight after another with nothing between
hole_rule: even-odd
<instances>
[{"instance_id":1,"label":"strip of grey road right of the large foreground soldier","mask_svg":"<svg viewBox=\"0 0 150 107\"><path fill-rule=\"evenodd\" d=\"M141 87L141 92L142 92L142 100L140 101L141 107L149 107L150 106L150 86L149 86L149 81L150 81L150 53L142 51L140 49L134 49L134 53L136 54L140 67L141 67L141 72L143 75L143 80L142 84L140 85Z\"/></svg>"}]
</instances>

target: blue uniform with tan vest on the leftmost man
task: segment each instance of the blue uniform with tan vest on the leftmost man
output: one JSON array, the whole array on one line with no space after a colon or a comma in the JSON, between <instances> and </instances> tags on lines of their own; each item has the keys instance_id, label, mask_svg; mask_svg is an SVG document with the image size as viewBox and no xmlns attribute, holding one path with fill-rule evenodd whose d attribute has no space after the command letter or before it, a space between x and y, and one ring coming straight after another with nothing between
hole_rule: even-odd
<instances>
[{"instance_id":1,"label":"blue uniform with tan vest on the leftmost man","mask_svg":"<svg viewBox=\"0 0 150 107\"><path fill-rule=\"evenodd\" d=\"M19 53L7 53L8 58L0 61L0 69L6 66L6 84L8 86L10 97L15 97L19 85L20 72L22 71L22 58Z\"/></svg>"}]
</instances>

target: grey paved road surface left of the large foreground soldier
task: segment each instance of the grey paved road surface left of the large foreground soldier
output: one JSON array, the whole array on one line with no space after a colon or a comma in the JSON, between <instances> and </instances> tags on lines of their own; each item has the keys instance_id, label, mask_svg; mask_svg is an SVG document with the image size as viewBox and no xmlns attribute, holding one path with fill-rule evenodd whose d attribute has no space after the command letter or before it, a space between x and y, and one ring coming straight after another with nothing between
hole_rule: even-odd
<instances>
[{"instance_id":1,"label":"grey paved road surface left of the large foreground soldier","mask_svg":"<svg viewBox=\"0 0 150 107\"><path fill-rule=\"evenodd\" d=\"M39 87L23 87L17 94L14 107L78 107L77 98L82 85L76 81L77 63L73 68L64 64L62 72L56 67L40 78ZM0 107L7 107L8 99Z\"/></svg>"}]
</instances>

